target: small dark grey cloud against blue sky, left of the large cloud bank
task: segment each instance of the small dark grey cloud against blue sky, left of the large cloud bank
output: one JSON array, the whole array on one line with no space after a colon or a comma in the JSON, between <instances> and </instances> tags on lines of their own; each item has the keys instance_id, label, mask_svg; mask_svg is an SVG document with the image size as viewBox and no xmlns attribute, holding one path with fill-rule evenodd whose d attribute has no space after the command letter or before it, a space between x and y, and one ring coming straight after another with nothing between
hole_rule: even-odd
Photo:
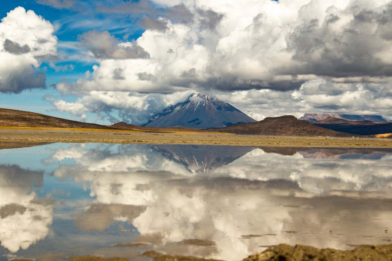
<instances>
[{"instance_id":1,"label":"small dark grey cloud against blue sky, left of the large cloud bank","mask_svg":"<svg viewBox=\"0 0 392 261\"><path fill-rule=\"evenodd\" d=\"M78 40L98 59L147 59L147 53L136 41L131 46L122 46L120 41L108 31L88 31L78 36Z\"/></svg>"}]
</instances>

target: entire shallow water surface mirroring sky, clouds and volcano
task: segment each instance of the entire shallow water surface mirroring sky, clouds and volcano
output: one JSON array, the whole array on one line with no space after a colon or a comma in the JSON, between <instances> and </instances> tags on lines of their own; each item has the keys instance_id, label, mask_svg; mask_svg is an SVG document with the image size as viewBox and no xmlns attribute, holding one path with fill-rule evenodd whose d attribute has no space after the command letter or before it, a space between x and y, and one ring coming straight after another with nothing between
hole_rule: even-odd
<instances>
[{"instance_id":1,"label":"entire shallow water surface mirroring sky, clouds and volcano","mask_svg":"<svg viewBox=\"0 0 392 261\"><path fill-rule=\"evenodd\" d=\"M0 150L0 259L240 260L392 241L392 150L56 143ZM136 243L133 244L132 243ZM116 245L125 244L125 245Z\"/></svg>"}]
</instances>

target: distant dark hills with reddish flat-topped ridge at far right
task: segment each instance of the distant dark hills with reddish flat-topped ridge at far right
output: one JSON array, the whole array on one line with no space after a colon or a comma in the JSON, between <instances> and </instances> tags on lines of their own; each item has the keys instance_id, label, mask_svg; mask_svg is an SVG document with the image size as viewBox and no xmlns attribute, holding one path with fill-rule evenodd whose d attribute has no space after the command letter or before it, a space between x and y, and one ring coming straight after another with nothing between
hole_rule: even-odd
<instances>
[{"instance_id":1,"label":"distant dark hills with reddish flat-topped ridge at far right","mask_svg":"<svg viewBox=\"0 0 392 261\"><path fill-rule=\"evenodd\" d=\"M329 117L322 121L311 121L312 125L347 132L355 135L376 135L392 132L392 122L350 121Z\"/></svg>"}]
</instances>

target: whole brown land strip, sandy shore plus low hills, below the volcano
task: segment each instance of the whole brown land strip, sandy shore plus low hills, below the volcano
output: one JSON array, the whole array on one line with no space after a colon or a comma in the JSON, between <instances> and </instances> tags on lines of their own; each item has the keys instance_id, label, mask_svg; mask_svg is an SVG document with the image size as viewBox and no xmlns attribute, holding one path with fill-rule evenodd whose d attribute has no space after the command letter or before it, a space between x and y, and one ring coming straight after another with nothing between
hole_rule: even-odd
<instances>
[{"instance_id":1,"label":"whole brown land strip, sandy shore plus low hills, below the volcano","mask_svg":"<svg viewBox=\"0 0 392 261\"><path fill-rule=\"evenodd\" d=\"M254 123L201 130L181 127L138 127L125 122L103 126L65 120L34 112L0 109L0 149L53 142L346 148L392 147L390 139L382 137L376 139L376 136L356 136L353 139L352 134L314 126L299 121L294 116L266 118Z\"/></svg>"}]
</instances>

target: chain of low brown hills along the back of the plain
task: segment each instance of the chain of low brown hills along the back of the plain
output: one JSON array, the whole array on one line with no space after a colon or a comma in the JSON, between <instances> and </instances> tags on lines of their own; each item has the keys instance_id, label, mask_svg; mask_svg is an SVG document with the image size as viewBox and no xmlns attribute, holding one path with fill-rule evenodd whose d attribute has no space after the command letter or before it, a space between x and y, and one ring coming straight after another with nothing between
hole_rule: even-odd
<instances>
[{"instance_id":1,"label":"chain of low brown hills along the back of the plain","mask_svg":"<svg viewBox=\"0 0 392 261\"><path fill-rule=\"evenodd\" d=\"M44 114L35 112L18 111L11 109L0 108L0 126L1 127L44 127L44 128L76 128L76 129L103 129L103 130L132 130L142 132L225 132L240 135L263 135L263 136L322 136L322 137L347 137L351 138L352 134L347 132L339 132L330 129L330 127L316 126L316 125L327 125L335 126L336 124L345 123L347 120L337 119L330 117L323 121L304 122L297 120L294 116L287 115L281 117L268 117L262 121L256 121L252 123L244 123L238 125L232 125L229 127L219 129L190 129L183 127L138 127L133 124L128 124L123 121L115 123L110 126L99 125L95 123L85 123L80 121L66 120L62 118L56 118ZM351 122L351 121L349 121ZM372 123L372 122L370 122ZM370 124L366 123L366 124ZM352 123L354 124L354 123ZM363 126L359 122L359 127ZM385 126L391 125L392 123L385 123ZM373 126L373 125L372 125ZM387 132L383 132L387 133ZM374 137L371 137L374 138Z\"/></svg>"}]
</instances>

